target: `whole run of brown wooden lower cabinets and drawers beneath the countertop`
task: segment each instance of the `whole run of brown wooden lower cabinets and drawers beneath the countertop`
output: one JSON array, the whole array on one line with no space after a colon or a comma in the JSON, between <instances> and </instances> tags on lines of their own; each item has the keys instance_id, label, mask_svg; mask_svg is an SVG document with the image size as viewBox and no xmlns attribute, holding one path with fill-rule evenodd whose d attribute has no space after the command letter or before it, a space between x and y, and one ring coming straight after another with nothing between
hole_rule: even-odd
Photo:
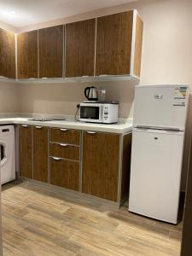
<instances>
[{"instance_id":1,"label":"whole run of brown wooden lower cabinets and drawers beneath the countertop","mask_svg":"<svg viewBox=\"0 0 192 256\"><path fill-rule=\"evenodd\" d=\"M20 125L19 134L21 177L117 203L127 198L131 134L83 131L82 147L81 131L50 128L49 137L49 127Z\"/></svg>"}]
</instances>

